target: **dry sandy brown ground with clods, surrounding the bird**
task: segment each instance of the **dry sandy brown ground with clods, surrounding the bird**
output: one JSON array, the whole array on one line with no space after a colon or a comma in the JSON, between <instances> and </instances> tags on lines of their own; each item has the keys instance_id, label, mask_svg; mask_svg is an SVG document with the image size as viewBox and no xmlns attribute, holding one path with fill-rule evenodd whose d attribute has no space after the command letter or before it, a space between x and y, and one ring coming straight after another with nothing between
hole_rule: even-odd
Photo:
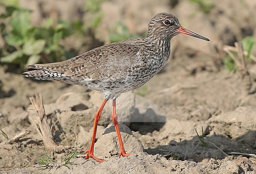
<instances>
[{"instance_id":1,"label":"dry sandy brown ground with clods, surrounding the bird","mask_svg":"<svg viewBox=\"0 0 256 174\"><path fill-rule=\"evenodd\" d=\"M20 2L26 4L26 0ZM34 9L33 20L41 18L41 11L51 15L54 10L59 12L59 17L72 20L76 18L76 9L83 4L69 0L66 4L51 2L42 1L43 9L39 9L36 2L24 7ZM167 0L102 3L105 15L96 37L105 43L109 42L108 31L116 21L122 20L132 33L143 33L150 18L159 12L175 14L184 27L211 40L176 36L164 69L140 89L118 98L117 113L124 147L128 153L134 153L129 157L118 155L109 102L102 113L95 144L95 156L106 162L83 159L91 140L94 114L102 100L97 92L60 82L38 82L0 67L3 84L0 129L9 138L22 130L32 130L7 144L0 134L0 173L255 174L256 64L247 62L252 80L248 94L239 72L228 72L221 58L225 56L223 45L233 45L234 38L252 35L250 33L256 38L256 22L250 17L256 16L256 3L254 0L243 4L232 0L215 2L210 14L200 12L196 4L188 1L181 1L175 7ZM66 14L70 9L73 16ZM71 41L66 45L72 47L72 44ZM44 145L34 124L39 118L29 100L35 91L43 96L54 140L70 149L53 153ZM200 135L203 129L205 147L198 140L196 129ZM80 154L71 160L74 163L56 170L61 157L75 149ZM42 165L36 158L44 154L56 161L51 170L36 168Z\"/></svg>"}]
</instances>

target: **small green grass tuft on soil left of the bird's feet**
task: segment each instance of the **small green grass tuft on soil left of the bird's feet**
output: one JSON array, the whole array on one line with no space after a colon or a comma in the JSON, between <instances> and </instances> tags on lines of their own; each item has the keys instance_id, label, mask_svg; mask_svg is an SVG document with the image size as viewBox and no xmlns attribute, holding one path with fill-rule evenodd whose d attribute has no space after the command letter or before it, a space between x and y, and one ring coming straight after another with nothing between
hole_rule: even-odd
<instances>
[{"instance_id":1,"label":"small green grass tuft on soil left of the bird's feet","mask_svg":"<svg viewBox=\"0 0 256 174\"><path fill-rule=\"evenodd\" d=\"M45 156L41 156L40 159L36 158L37 161L43 163L43 165L38 166L37 168L45 170L45 169L53 169L56 167L56 170L59 169L61 166L68 166L74 161L70 161L75 156L77 156L79 153L77 153L77 149L72 152L69 156L65 155L65 157L61 157L60 163L58 161L55 161L54 159L50 158L47 154Z\"/></svg>"}]
</instances>

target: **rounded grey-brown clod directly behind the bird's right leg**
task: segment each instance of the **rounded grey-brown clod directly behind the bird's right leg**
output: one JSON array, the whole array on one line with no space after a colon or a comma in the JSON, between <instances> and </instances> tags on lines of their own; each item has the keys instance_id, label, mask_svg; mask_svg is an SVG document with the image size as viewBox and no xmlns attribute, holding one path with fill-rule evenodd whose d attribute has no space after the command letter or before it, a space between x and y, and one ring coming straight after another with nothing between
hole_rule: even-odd
<instances>
[{"instance_id":1,"label":"rounded grey-brown clod directly behind the bird's right leg","mask_svg":"<svg viewBox=\"0 0 256 174\"><path fill-rule=\"evenodd\" d=\"M124 143L126 153L143 152L143 145L134 137L132 131L124 124L119 124L119 129ZM119 143L114 125L109 125L102 136L95 143L95 156L100 159L106 159L113 155L119 155Z\"/></svg>"}]
</instances>

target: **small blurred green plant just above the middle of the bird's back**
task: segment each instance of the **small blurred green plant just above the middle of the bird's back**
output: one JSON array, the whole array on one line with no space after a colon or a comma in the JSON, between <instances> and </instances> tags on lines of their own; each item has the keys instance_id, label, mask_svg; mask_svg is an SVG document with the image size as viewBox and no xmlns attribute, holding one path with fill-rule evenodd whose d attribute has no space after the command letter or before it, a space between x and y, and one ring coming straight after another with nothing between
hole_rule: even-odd
<instances>
[{"instance_id":1,"label":"small blurred green plant just above the middle of the bird's back","mask_svg":"<svg viewBox=\"0 0 256 174\"><path fill-rule=\"evenodd\" d=\"M139 35L130 33L128 27L120 21L115 24L115 31L109 34L110 42L117 42L136 37L139 37Z\"/></svg>"}]
</instances>

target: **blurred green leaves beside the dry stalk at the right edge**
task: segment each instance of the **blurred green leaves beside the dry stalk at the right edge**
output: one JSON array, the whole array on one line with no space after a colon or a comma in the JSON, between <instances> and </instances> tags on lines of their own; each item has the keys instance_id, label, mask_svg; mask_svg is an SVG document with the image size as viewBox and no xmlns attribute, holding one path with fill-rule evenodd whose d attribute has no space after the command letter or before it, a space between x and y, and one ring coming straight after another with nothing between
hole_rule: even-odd
<instances>
[{"instance_id":1,"label":"blurred green leaves beside the dry stalk at the right edge","mask_svg":"<svg viewBox=\"0 0 256 174\"><path fill-rule=\"evenodd\" d=\"M243 50L247 52L245 55L245 60L251 62L250 56L252 55L252 48L255 44L255 40L252 36L247 36L242 40ZM236 55L236 51L231 51L232 54ZM228 69L228 71L236 71L237 65L236 62L233 60L233 58L227 53L226 58L223 58L223 64Z\"/></svg>"}]
</instances>

